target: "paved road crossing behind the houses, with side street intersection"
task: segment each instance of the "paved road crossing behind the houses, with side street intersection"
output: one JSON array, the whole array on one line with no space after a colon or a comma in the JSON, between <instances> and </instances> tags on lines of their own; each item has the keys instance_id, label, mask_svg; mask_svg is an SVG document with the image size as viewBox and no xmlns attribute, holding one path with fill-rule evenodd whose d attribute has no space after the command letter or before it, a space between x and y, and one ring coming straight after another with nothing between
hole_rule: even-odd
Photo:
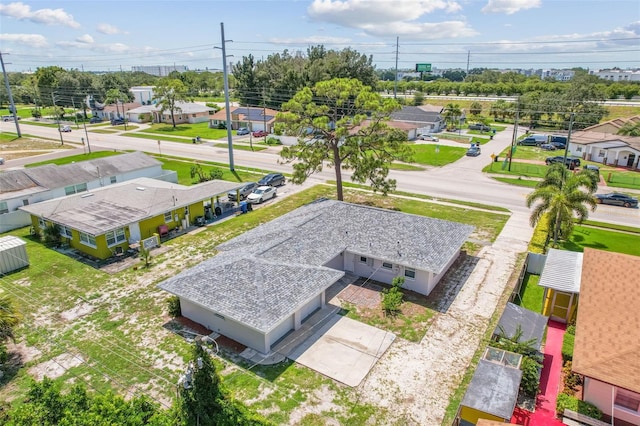
<instances>
[{"instance_id":1,"label":"paved road crossing behind the houses, with side street intersection","mask_svg":"<svg viewBox=\"0 0 640 426\"><path fill-rule=\"evenodd\" d=\"M8 127L7 127L8 125ZM13 123L0 123L3 131L14 131ZM56 128L30 126L21 122L22 132L52 139L59 138ZM444 167L429 167L422 171L396 171L390 175L397 180L399 190L426 194L435 197L458 199L483 204L491 204L505 207L514 214L528 215L530 210L524 205L525 197L531 189L513 186L498 182L482 173L482 168L491 161L492 153L499 153L510 145L513 128L508 126L503 132L495 135L494 139L482 146L482 154L478 157L463 157L455 163ZM81 130L65 133L67 142L81 143L85 134ZM91 147L96 149L141 150L147 152L174 155L196 160L216 161L228 163L229 153L227 149L216 148L207 144L189 144L177 142L161 142L149 139L140 139L117 134L99 134L89 132ZM465 146L465 145L461 145ZM279 172L290 172L291 166L278 162L278 148L269 148L266 151L234 151L236 168L252 167ZM23 163L8 161L5 166L13 167ZM345 172L345 180L350 174ZM313 175L312 181L335 180L333 169L325 168L321 173ZM609 192L605 189L600 192ZM622 225L638 226L640 224L640 209L623 209L613 206L599 206L596 212L590 214L590 218L597 221L618 223Z\"/></svg>"}]
</instances>

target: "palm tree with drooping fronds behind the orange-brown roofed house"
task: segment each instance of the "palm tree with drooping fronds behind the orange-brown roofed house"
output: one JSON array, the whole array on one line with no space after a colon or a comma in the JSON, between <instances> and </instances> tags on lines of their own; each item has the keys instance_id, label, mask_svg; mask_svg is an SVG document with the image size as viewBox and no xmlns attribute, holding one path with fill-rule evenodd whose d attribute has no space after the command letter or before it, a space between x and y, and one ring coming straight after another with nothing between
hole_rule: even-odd
<instances>
[{"instance_id":1,"label":"palm tree with drooping fronds behind the orange-brown roofed house","mask_svg":"<svg viewBox=\"0 0 640 426\"><path fill-rule=\"evenodd\" d=\"M573 232L574 215L581 223L589 217L587 206L595 211L597 203L593 194L597 189L597 178L591 171L583 169L573 173L562 164L553 164L544 180L527 196L527 207L539 201L529 218L531 226L549 214L547 236L553 235L553 245L557 246L561 235L566 239Z\"/></svg>"}]
</instances>

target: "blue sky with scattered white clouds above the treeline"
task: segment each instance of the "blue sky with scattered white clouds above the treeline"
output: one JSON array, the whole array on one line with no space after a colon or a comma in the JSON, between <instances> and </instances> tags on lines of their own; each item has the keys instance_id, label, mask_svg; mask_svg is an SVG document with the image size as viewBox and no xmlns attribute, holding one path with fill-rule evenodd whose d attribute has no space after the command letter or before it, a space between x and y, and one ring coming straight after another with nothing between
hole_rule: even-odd
<instances>
[{"instance_id":1,"label":"blue sky with scattered white clouds above the treeline","mask_svg":"<svg viewBox=\"0 0 640 426\"><path fill-rule=\"evenodd\" d=\"M221 69L249 54L352 47L378 68L640 68L638 0L0 2L8 71ZM470 53L469 53L470 52Z\"/></svg>"}]
</instances>

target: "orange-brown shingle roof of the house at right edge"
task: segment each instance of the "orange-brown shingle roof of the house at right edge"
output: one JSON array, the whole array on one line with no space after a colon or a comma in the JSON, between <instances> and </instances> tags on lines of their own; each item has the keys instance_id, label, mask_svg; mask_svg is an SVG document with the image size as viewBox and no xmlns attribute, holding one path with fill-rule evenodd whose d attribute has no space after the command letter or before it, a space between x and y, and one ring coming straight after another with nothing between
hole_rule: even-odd
<instances>
[{"instance_id":1,"label":"orange-brown shingle roof of the house at right edge","mask_svg":"<svg viewBox=\"0 0 640 426\"><path fill-rule=\"evenodd\" d=\"M640 392L640 257L586 248L573 370Z\"/></svg>"}]
</instances>

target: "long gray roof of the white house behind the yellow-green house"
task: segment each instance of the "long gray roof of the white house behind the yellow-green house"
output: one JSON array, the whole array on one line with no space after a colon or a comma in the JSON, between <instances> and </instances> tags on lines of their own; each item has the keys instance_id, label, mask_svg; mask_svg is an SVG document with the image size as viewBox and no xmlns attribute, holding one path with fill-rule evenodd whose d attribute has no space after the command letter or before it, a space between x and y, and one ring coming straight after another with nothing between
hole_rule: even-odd
<instances>
[{"instance_id":1,"label":"long gray roof of the white house behind the yellow-green house","mask_svg":"<svg viewBox=\"0 0 640 426\"><path fill-rule=\"evenodd\" d=\"M39 167L0 173L0 188L3 193L20 191L34 186L45 189L64 188L69 185L94 181L100 177L115 176L161 164L158 160L142 152L114 155L62 166L45 164Z\"/></svg>"}]
</instances>

